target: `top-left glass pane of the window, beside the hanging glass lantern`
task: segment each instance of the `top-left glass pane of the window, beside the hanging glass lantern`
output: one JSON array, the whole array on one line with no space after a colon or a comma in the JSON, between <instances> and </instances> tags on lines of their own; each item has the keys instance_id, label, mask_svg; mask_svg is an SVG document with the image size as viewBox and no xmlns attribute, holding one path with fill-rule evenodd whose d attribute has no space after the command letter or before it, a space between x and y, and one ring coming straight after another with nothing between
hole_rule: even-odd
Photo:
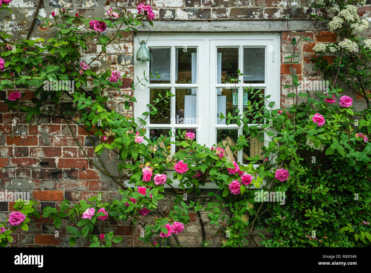
<instances>
[{"instance_id":1,"label":"top-left glass pane of the window, beside the hanging glass lantern","mask_svg":"<svg viewBox=\"0 0 371 273\"><path fill-rule=\"evenodd\" d=\"M150 71L160 78L151 78L150 83L170 83L171 48L150 48Z\"/></svg>"}]
</instances>

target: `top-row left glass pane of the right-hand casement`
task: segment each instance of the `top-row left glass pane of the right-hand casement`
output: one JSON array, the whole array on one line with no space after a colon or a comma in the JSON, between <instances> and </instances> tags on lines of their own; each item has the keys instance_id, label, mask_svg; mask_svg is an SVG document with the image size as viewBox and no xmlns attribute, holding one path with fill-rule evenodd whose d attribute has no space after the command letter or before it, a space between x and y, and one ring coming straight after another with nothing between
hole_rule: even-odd
<instances>
[{"instance_id":1,"label":"top-row left glass pane of the right-hand casement","mask_svg":"<svg viewBox=\"0 0 371 273\"><path fill-rule=\"evenodd\" d=\"M237 78L238 47L218 47L217 50L217 83L234 83Z\"/></svg>"}]
</instances>

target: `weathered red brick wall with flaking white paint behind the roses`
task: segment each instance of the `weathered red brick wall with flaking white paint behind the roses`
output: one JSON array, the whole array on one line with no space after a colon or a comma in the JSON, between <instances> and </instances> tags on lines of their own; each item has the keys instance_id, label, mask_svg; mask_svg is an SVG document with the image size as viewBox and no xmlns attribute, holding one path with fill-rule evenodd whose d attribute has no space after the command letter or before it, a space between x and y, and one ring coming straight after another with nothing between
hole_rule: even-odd
<instances>
[{"instance_id":1,"label":"weathered red brick wall with flaking white paint behind the roses","mask_svg":"<svg viewBox=\"0 0 371 273\"><path fill-rule=\"evenodd\" d=\"M39 11L40 16L49 16L52 10L59 8L73 9L87 18L105 17L108 7L104 7L105 0L44 0ZM371 1L368 1L371 2ZM13 14L4 12L0 15L1 27L15 37L24 38L29 31L33 14L35 13L37 0L13 0L10 7ZM139 3L151 4L154 8L156 20L283 20L281 17L287 13L286 1L278 0L148 0L126 1L128 9L135 11ZM289 1L289 14L293 18L308 19L311 9L308 8L310 1ZM371 3L367 3L371 4ZM371 6L359 8L359 15L369 17ZM161 22L155 22L158 24ZM291 29L292 31L298 31ZM109 34L109 33L108 33ZM91 68L96 72L103 70L119 70L125 72L124 86L121 89L125 94L131 95L129 89L133 79L133 33L123 33L121 39L117 39L107 47L102 61L95 61ZM299 64L295 65L299 80L303 78L322 79L321 73L313 69L310 57L313 55L313 46L316 42L336 42L337 37L327 31L309 31L306 37L310 41L302 41L297 48ZM365 35L370 36L367 31ZM35 24L31 37L42 37L45 40L53 36L48 27L40 27ZM284 64L284 58L292 53L292 45L289 42L288 32L281 33L281 106L287 107L292 99L286 97L290 92L283 88L290 83L289 65ZM90 51L84 56L89 62L98 53L99 48L94 44L88 45ZM20 90L20 89L17 89ZM84 157L73 140L70 129L58 113L53 112L53 105L45 105L43 115L33 118L28 124L25 123L26 114L8 112L4 100L14 90L0 91L0 190L7 191L30 191L33 199L39 201L40 210L46 206L57 207L63 199L72 203L81 199L96 195L101 192L104 200L119 196L118 185L104 174L99 174L91 162ZM23 103L29 103L33 97L33 90L21 90L27 95L21 99ZM120 92L121 93L121 92ZM109 106L118 112L122 112L124 97L116 91L107 91L106 95L112 98ZM354 97L353 94L346 94ZM68 103L66 102L66 105ZM357 108L365 106L364 100L355 98L354 105ZM129 114L132 114L132 108ZM16 126L12 126L12 120L16 118ZM89 157L93 158L92 143L86 132L79 126L72 125L72 131L76 139ZM93 139L94 141L94 139ZM56 164L55 157L59 157ZM109 170L115 170L117 165L113 153L104 152L102 158ZM93 162L98 164L97 159ZM41 163L41 164L40 164ZM165 193L161 209L164 211L173 204L171 193ZM3 218L12 210L12 202L0 202L0 216ZM187 225L185 231L179 236L179 240L186 246L201 246L201 227L196 214L190 211L193 220ZM202 213L206 217L206 213ZM150 215L149 217L155 217ZM206 239L214 246L220 246L223 236L217 235L216 226L210 226L205 220ZM41 218L32 220L29 231L18 230L12 235L13 246L45 246L45 245L68 245L68 232L63 223L59 228L59 238L54 237L55 227L49 219ZM138 226L130 226L128 222L111 221L109 224L101 224L96 230L99 232L114 231L115 235L124 236L119 246L138 246L140 233ZM253 236L258 231L253 231ZM267 236L269 238L269 236ZM259 237L255 237L259 242ZM173 245L174 240L170 241ZM86 246L88 242L79 240L76 246ZM253 243L251 244L253 245Z\"/></svg>"}]
</instances>

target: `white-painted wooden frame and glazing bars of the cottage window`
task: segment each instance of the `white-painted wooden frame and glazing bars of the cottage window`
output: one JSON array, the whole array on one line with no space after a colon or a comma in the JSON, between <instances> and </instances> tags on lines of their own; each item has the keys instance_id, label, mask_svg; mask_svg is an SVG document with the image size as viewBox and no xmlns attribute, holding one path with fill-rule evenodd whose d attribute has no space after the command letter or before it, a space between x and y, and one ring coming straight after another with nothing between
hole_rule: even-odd
<instances>
[{"instance_id":1,"label":"white-painted wooden frame and glazing bars of the cottage window","mask_svg":"<svg viewBox=\"0 0 371 273\"><path fill-rule=\"evenodd\" d=\"M141 34L143 36L144 34ZM136 38L136 37L134 37ZM137 39L136 39L137 40ZM134 84L138 83L138 78L143 78L143 71L148 76L150 73L150 62L138 62L136 53L139 48L139 43L134 42ZM175 61L175 47L184 46L197 47L197 83L196 84L175 84L175 66L174 61L171 62L171 83L145 83L145 88L141 88L138 84L134 91L134 96L137 103L134 105L134 116L137 118L145 118L143 112L148 112L150 92L149 88L171 88L174 93L175 88L197 88L197 125L194 124L174 124L173 111L175 111L175 98L171 102L171 124L157 125L149 124L149 118L146 119L147 128L170 128L174 132L174 128L196 128L197 139L200 144L206 144L211 147L216 144L216 129L238 129L239 135L242 133L242 126L236 124L223 125L217 124L216 115L216 88L226 87L226 84L216 84L216 52L217 47L239 47L239 69L243 73L243 47L265 47L265 83L243 83L243 76L240 77L241 82L237 83L239 88L239 105L242 105L243 88L265 88L265 96L270 95L269 101L275 101L272 109L280 108L280 35L279 33L152 33L148 39L148 47L170 47L171 60ZM215 56L214 58L211 56ZM137 78L138 77L138 78ZM152 78L153 79L153 78ZM234 88L234 85L233 85ZM208 102L208 103L205 103ZM212 114L210 114L212 113ZM211 118L211 116L215 118ZM205 117L205 118L204 118ZM148 129L146 137L149 138ZM269 136L265 135L264 145L270 141ZM175 152L175 146L171 145L171 154ZM242 162L242 151L239 151L237 160ZM210 184L210 183L207 183ZM212 185L205 185L205 188L214 188ZM215 185L214 183L212 183ZM210 187L211 186L211 187ZM255 188L255 187L252 187Z\"/></svg>"}]
</instances>

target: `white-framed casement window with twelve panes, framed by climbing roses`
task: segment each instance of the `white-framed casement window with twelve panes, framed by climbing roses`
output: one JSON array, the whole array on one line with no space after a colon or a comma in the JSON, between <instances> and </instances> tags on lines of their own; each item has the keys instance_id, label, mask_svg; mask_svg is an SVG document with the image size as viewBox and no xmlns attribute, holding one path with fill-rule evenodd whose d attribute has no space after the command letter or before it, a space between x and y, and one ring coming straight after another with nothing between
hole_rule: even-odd
<instances>
[{"instance_id":1,"label":"white-framed casement window with twelve panes, framed by climbing roses","mask_svg":"<svg viewBox=\"0 0 371 273\"><path fill-rule=\"evenodd\" d=\"M134 45L134 52L138 50ZM156 33L148 39L151 52L149 62L137 62L134 56L135 83L145 75L157 72L160 78L142 81L145 86L137 85L135 98L135 117L141 117L149 110L158 94L175 94L168 103L156 105L158 113L146 119L147 137L155 139L169 131L178 134L192 131L196 141L211 147L222 142L231 146L240 134L242 126L227 125L220 121L220 113L244 111L251 93L245 88L254 88L254 92L271 95L280 103L280 47L279 35L274 33ZM236 79L237 69L243 73ZM245 109L246 111L246 109ZM250 147L244 151L226 151L233 161L246 163L246 157L260 154L263 145L257 139L250 138ZM171 154L178 150L174 144L167 147Z\"/></svg>"}]
</instances>

